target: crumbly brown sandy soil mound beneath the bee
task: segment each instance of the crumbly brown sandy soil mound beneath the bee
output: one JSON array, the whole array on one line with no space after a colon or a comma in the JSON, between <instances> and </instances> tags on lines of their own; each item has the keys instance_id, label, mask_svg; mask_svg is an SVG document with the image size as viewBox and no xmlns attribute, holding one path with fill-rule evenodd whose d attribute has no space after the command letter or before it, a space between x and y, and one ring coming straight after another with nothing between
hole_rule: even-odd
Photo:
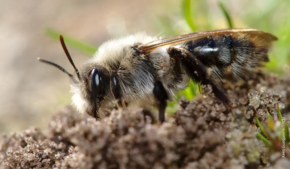
<instances>
[{"instance_id":1,"label":"crumbly brown sandy soil mound beneath the bee","mask_svg":"<svg viewBox=\"0 0 290 169\"><path fill-rule=\"evenodd\" d=\"M31 127L0 140L6 168L289 168L282 152L269 152L256 138L254 112L267 124L266 106L290 119L290 77L274 74L245 84L225 82L237 107L228 111L202 86L204 96L180 99L180 110L162 125L142 109L114 110L96 121L70 106L52 116L46 131ZM288 122L289 123L289 122Z\"/></svg>"}]
</instances>

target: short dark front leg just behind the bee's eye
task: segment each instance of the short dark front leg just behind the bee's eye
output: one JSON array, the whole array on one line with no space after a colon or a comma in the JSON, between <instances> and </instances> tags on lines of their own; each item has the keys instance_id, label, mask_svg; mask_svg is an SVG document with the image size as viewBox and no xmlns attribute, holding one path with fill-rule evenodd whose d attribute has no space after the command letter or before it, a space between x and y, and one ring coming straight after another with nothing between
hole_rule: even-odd
<instances>
[{"instance_id":1,"label":"short dark front leg just behind the bee's eye","mask_svg":"<svg viewBox=\"0 0 290 169\"><path fill-rule=\"evenodd\" d=\"M110 87L111 87L111 92L114 95L114 98L117 100L118 106L122 106L122 96L121 96L121 88L120 84L117 78L117 72L112 70L111 71L111 76L110 76Z\"/></svg>"}]
</instances>

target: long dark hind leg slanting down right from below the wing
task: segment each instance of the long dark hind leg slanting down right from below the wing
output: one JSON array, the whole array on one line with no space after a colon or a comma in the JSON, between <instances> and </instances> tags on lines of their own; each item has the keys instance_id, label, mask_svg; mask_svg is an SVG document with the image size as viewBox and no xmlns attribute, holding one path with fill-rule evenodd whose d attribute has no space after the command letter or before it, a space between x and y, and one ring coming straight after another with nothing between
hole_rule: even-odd
<instances>
[{"instance_id":1,"label":"long dark hind leg slanting down right from below the wing","mask_svg":"<svg viewBox=\"0 0 290 169\"><path fill-rule=\"evenodd\" d=\"M171 46L167 49L170 57L180 60L181 66L184 68L186 74L191 77L195 82L201 84L210 84L213 89L213 93L219 98L227 108L231 108L230 101L224 91L223 87L218 87L213 79L207 78L206 67L201 63L199 59L193 56L184 48L176 48Z\"/></svg>"}]
</instances>

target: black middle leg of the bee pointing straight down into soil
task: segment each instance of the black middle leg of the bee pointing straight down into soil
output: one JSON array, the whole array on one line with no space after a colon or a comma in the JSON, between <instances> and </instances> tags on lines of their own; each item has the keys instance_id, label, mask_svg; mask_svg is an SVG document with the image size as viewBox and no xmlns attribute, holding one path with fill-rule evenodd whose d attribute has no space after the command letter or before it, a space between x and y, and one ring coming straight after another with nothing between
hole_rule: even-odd
<instances>
[{"instance_id":1,"label":"black middle leg of the bee pointing straight down into soil","mask_svg":"<svg viewBox=\"0 0 290 169\"><path fill-rule=\"evenodd\" d=\"M167 106L168 93L159 80L156 80L154 83L153 94L159 109L159 121L163 123L165 121L165 108Z\"/></svg>"}]
</instances>

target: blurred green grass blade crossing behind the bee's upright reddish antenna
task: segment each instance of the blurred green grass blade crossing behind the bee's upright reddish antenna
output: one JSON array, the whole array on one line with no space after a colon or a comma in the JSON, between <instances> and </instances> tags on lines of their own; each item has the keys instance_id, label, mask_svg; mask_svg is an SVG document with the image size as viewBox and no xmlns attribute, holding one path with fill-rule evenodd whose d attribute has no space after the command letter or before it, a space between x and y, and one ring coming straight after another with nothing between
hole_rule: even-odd
<instances>
[{"instance_id":1,"label":"blurred green grass blade crossing behind the bee's upright reddish antenna","mask_svg":"<svg viewBox=\"0 0 290 169\"><path fill-rule=\"evenodd\" d=\"M61 35L60 32L57 32L57 31L50 29L50 28L47 28L45 30L45 33L49 37L51 37L55 40L59 40L59 35ZM86 54L92 55L98 49L96 46L86 44L84 42L78 41L78 40L71 38L69 36L66 36L66 35L62 35L62 36L64 37L64 41L65 41L66 45L71 46L71 47L73 47L81 52L84 52Z\"/></svg>"}]
</instances>

